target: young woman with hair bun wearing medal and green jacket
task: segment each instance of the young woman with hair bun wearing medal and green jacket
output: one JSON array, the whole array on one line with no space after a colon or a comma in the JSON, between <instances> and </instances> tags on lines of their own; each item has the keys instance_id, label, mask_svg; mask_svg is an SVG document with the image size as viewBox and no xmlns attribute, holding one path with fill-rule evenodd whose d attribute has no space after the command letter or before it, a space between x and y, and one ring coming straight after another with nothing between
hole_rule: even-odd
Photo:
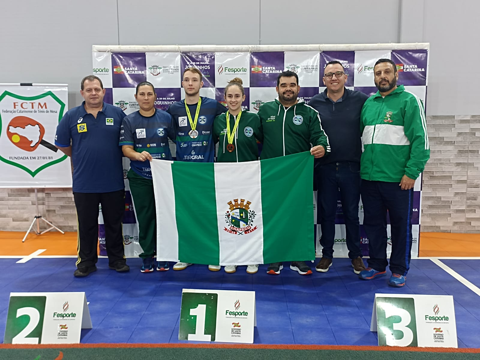
<instances>
[{"instance_id":1,"label":"young woman with hair bun wearing medal and green jacket","mask_svg":"<svg viewBox=\"0 0 480 360\"><path fill-rule=\"evenodd\" d=\"M241 163L258 160L257 140L263 141L260 118L248 110L242 110L245 100L242 80L228 81L224 91L228 111L216 116L213 124L213 136L218 140L218 163ZM234 273L236 265L225 267L225 272ZM255 274L258 264L247 266L247 273Z\"/></svg>"}]
</instances>

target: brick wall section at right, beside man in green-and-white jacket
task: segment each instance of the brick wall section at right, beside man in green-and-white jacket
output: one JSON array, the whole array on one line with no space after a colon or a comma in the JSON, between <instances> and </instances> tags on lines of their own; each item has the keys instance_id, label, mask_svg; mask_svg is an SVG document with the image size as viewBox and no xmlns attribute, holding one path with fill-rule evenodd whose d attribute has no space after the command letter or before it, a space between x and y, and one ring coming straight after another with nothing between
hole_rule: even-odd
<instances>
[{"instance_id":1,"label":"brick wall section at right, beside man in green-and-white jacket","mask_svg":"<svg viewBox=\"0 0 480 360\"><path fill-rule=\"evenodd\" d=\"M421 231L480 232L480 116L427 116Z\"/></svg>"}]
</instances>

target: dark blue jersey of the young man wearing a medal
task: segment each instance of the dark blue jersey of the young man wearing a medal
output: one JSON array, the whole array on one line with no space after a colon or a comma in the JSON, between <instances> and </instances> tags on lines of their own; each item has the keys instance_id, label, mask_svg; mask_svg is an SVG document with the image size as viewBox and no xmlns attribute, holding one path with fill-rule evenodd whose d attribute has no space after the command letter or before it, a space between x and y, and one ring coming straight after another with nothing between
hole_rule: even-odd
<instances>
[{"instance_id":1,"label":"dark blue jersey of the young man wearing a medal","mask_svg":"<svg viewBox=\"0 0 480 360\"><path fill-rule=\"evenodd\" d=\"M195 120L197 104L188 105L192 121ZM227 108L208 97L202 96L200 113L198 114L198 137L192 139L188 133L192 130L185 109L185 99L168 106L167 112L173 118L176 132L176 159L178 161L191 161L195 163L213 163L215 146L212 138L213 120L217 115L223 114Z\"/></svg>"}]
</instances>

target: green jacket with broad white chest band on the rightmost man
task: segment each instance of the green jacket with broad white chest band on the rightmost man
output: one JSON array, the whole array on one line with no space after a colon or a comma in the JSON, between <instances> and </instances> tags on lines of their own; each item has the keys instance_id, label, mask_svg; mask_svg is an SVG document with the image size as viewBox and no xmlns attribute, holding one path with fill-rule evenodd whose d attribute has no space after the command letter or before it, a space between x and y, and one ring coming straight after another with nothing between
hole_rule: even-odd
<instances>
[{"instance_id":1,"label":"green jacket with broad white chest band on the rightmost man","mask_svg":"<svg viewBox=\"0 0 480 360\"><path fill-rule=\"evenodd\" d=\"M403 175L417 179L430 158L423 104L403 85L384 98L377 92L367 99L360 132L365 149L360 160L362 179L400 182Z\"/></svg>"}]
</instances>

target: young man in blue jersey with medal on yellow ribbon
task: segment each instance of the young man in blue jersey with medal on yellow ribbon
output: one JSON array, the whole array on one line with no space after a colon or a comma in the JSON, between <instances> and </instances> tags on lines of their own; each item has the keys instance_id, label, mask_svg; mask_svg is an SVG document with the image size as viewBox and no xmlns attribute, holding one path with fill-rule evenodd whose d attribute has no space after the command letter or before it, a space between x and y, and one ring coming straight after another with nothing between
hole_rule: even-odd
<instances>
[{"instance_id":1,"label":"young man in blue jersey with medal on yellow ribbon","mask_svg":"<svg viewBox=\"0 0 480 360\"><path fill-rule=\"evenodd\" d=\"M176 160L195 163L213 163L215 155L212 128L215 116L227 109L215 99L200 96L203 86L202 72L189 68L183 72L182 86L185 99L168 107L176 132ZM195 114L192 117L192 114ZM183 270L191 263L178 262L174 270ZM220 266L211 265L212 271L220 270Z\"/></svg>"}]
</instances>

